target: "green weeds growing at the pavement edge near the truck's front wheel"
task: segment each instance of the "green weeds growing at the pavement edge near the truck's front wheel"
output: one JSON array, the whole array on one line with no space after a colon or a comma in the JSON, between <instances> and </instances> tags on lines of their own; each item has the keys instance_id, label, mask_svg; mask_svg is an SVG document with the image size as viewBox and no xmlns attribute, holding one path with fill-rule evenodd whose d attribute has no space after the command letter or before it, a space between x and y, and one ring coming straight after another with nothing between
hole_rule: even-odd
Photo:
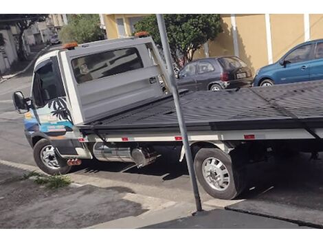
<instances>
[{"instance_id":1,"label":"green weeds growing at the pavement edge near the truck's front wheel","mask_svg":"<svg viewBox=\"0 0 323 242\"><path fill-rule=\"evenodd\" d=\"M57 189L63 188L64 186L69 186L71 184L71 177L66 175L43 175L32 171L29 174L23 175L23 179L29 179L34 177L34 182L39 185L45 185L47 188Z\"/></svg>"}]
</instances>

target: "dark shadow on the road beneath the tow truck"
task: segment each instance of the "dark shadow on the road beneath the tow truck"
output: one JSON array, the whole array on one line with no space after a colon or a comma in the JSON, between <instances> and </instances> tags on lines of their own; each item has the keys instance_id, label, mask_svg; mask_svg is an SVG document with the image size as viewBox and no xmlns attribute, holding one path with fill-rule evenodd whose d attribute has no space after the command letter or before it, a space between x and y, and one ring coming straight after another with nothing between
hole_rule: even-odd
<instances>
[{"instance_id":1,"label":"dark shadow on the road beneath the tow truck","mask_svg":"<svg viewBox=\"0 0 323 242\"><path fill-rule=\"evenodd\" d=\"M166 181L188 175L186 163L179 164L176 155L168 151L154 164L140 169L120 162L85 161L74 168L74 172L153 175ZM310 162L309 157L300 153L291 159L271 157L268 162L248 164L247 188L237 199L265 199L297 206L312 206L315 203L323 210L323 160Z\"/></svg>"}]
</instances>

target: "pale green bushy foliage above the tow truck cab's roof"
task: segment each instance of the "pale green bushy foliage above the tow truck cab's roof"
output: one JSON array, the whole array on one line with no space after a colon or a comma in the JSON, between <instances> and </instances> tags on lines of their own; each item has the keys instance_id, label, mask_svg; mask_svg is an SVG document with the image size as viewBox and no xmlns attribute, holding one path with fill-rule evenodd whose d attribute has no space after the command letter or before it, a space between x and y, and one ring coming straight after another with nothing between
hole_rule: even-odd
<instances>
[{"instance_id":1,"label":"pale green bushy foliage above the tow truck cab's roof","mask_svg":"<svg viewBox=\"0 0 323 242\"><path fill-rule=\"evenodd\" d=\"M86 43L104 39L104 30L100 29L99 14L71 14L69 24L59 32L62 43L76 41Z\"/></svg>"}]
</instances>

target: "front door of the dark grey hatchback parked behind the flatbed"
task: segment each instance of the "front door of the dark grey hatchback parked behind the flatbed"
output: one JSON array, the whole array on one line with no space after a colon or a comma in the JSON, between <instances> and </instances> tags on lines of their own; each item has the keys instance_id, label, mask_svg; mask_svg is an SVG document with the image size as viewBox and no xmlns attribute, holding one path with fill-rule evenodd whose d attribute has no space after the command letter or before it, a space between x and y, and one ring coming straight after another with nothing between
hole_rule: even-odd
<instances>
[{"instance_id":1,"label":"front door of the dark grey hatchback parked behind the flatbed","mask_svg":"<svg viewBox=\"0 0 323 242\"><path fill-rule=\"evenodd\" d=\"M177 79L178 89L189 89L190 91L197 91L197 63L190 63L183 67L179 72Z\"/></svg>"}]
</instances>

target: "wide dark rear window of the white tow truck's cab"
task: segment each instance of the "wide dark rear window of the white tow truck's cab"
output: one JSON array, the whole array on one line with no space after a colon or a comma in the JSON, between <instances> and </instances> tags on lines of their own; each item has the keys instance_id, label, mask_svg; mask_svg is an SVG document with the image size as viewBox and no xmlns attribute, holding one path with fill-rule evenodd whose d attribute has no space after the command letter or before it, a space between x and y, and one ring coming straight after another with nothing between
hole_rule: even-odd
<instances>
[{"instance_id":1,"label":"wide dark rear window of the white tow truck's cab","mask_svg":"<svg viewBox=\"0 0 323 242\"><path fill-rule=\"evenodd\" d=\"M77 83L144 67L140 54L134 47L82 56L73 59L71 65Z\"/></svg>"}]
</instances>

